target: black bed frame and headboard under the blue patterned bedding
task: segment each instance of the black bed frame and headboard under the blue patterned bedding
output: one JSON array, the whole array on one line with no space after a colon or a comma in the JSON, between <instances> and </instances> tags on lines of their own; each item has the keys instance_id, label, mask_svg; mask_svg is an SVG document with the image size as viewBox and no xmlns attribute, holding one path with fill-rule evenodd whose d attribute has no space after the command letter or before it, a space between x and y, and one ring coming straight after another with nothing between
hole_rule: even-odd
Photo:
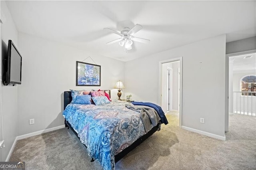
<instances>
[{"instance_id":1,"label":"black bed frame and headboard under the blue patterned bedding","mask_svg":"<svg viewBox=\"0 0 256 170\"><path fill-rule=\"evenodd\" d=\"M71 96L71 91L64 91L64 109L66 108L66 106L71 103L72 101L72 96ZM66 121L65 119L65 127L70 128L74 134L76 134L76 136L78 137L78 134L76 133L76 131L71 127L70 123L68 123L68 121ZM125 148L124 150L122 150L122 152L120 152L119 154L115 155L115 162L118 162L120 159L122 159L126 154L128 154L130 151L132 151L134 148L136 148L137 146L139 146L144 140L146 140L149 136L151 136L154 132L156 132L157 130L160 130L160 123L158 125L156 125L155 127L153 127L150 131L148 131L148 133L144 134L143 136L141 136L140 138L138 138L135 142L133 142L130 146L128 146L127 148ZM79 137L78 137L79 138ZM80 138L79 138L80 139ZM84 146L87 148L87 146L84 144ZM94 159L92 158L91 162L93 162Z\"/></svg>"}]
</instances>

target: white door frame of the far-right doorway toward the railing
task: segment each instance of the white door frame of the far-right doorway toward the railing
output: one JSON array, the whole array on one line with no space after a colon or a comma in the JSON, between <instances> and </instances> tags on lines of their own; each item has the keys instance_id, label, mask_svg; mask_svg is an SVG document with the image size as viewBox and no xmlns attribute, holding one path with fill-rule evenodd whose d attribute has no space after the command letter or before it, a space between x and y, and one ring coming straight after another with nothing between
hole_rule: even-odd
<instances>
[{"instance_id":1,"label":"white door frame of the far-right doorway toward the railing","mask_svg":"<svg viewBox=\"0 0 256 170\"><path fill-rule=\"evenodd\" d=\"M243 54L250 54L256 53L256 49L248 50L248 51L241 51L236 53L229 53L226 54L226 74L225 74L225 132L228 132L228 125L229 125L229 113L228 113L228 101L229 101L229 57L233 57L236 55L243 55Z\"/></svg>"}]
</instances>

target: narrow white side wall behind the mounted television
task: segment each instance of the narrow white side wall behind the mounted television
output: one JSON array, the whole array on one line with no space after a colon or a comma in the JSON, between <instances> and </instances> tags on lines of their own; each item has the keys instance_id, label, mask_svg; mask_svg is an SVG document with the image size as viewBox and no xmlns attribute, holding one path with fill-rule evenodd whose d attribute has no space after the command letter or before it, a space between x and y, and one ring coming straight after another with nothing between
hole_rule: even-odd
<instances>
[{"instance_id":1,"label":"narrow white side wall behind the mounted television","mask_svg":"<svg viewBox=\"0 0 256 170\"><path fill-rule=\"evenodd\" d=\"M2 41L2 57L7 54L8 40L12 40L17 48L18 46L18 32L12 20L12 16L6 6L6 2L0 1L1 13L4 16L4 23L1 24L1 41ZM2 69L2 65L1 65ZM1 77L2 80L2 77ZM6 157L12 147L12 144L17 136L18 127L18 109L17 109L17 89L18 86L4 86L2 81L2 115L3 128L1 126L1 140L4 140L5 147L1 148L1 161L5 161Z\"/></svg>"}]
</instances>

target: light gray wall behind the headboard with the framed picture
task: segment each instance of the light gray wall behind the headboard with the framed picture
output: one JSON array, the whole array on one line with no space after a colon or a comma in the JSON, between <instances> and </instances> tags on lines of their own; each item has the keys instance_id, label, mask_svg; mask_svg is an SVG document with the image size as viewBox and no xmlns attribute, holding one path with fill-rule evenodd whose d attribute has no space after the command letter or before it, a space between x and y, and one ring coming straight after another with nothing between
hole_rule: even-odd
<instances>
[{"instance_id":1,"label":"light gray wall behind the headboard with the framed picture","mask_svg":"<svg viewBox=\"0 0 256 170\"><path fill-rule=\"evenodd\" d=\"M22 84L18 88L18 135L64 125L63 92L69 89L113 89L124 80L124 62L35 36L19 33ZM88 56L101 65L100 87L76 87L76 61ZM90 58L84 62L94 63ZM124 82L125 84L125 82ZM116 99L117 90L112 98ZM28 125L29 119L34 125Z\"/></svg>"}]
</instances>

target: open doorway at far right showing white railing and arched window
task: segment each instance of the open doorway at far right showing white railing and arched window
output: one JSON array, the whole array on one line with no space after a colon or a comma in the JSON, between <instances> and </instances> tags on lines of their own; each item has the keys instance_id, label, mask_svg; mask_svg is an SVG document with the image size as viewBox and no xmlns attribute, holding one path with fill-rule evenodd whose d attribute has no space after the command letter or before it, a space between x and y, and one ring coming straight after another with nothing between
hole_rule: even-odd
<instances>
[{"instance_id":1,"label":"open doorway at far right showing white railing and arched window","mask_svg":"<svg viewBox=\"0 0 256 170\"><path fill-rule=\"evenodd\" d=\"M256 118L256 51L228 54L226 59L225 131L235 133L232 124L248 125L249 130L250 121Z\"/></svg>"}]
</instances>

